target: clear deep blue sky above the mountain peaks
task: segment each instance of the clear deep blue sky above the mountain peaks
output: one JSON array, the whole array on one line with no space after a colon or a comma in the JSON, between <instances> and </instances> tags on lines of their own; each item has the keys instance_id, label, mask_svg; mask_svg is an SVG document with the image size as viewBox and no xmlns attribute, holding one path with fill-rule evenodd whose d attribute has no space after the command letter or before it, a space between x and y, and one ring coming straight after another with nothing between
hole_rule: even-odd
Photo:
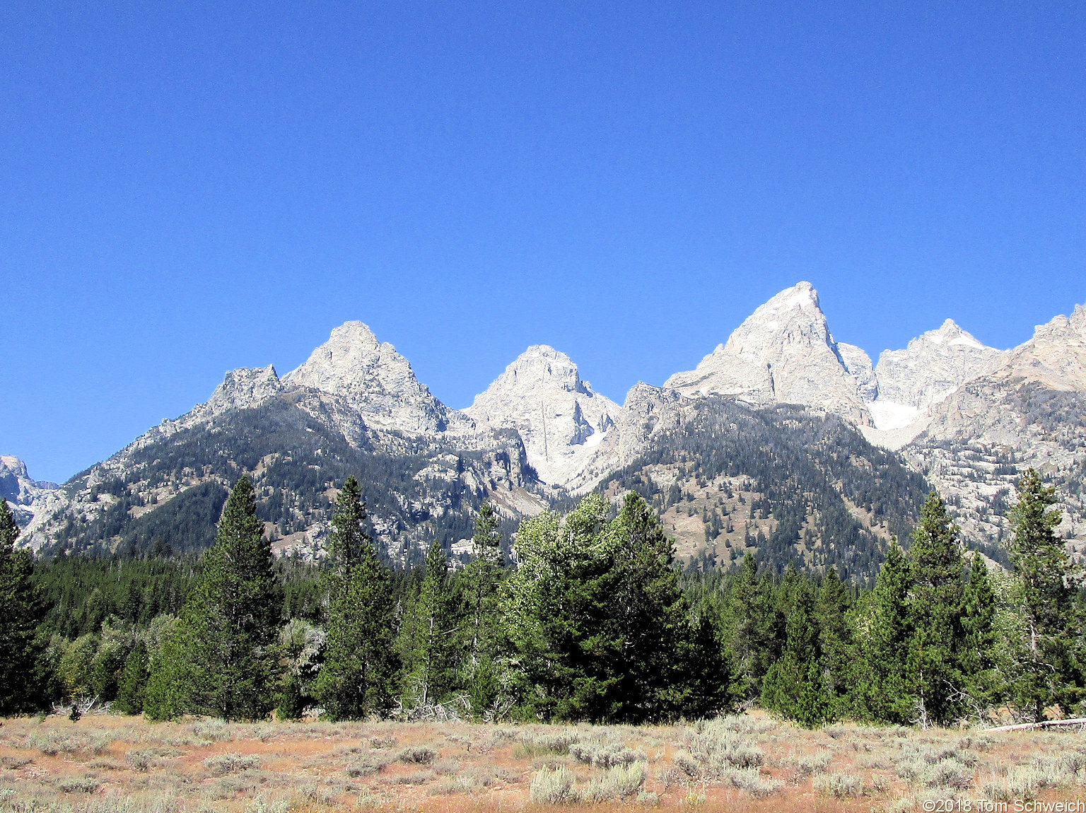
<instances>
[{"instance_id":1,"label":"clear deep blue sky above the mountain peaks","mask_svg":"<svg viewBox=\"0 0 1086 813\"><path fill-rule=\"evenodd\" d=\"M1074 2L0 7L0 453L65 480L361 319L621 401L800 279L872 356L1086 301Z\"/></svg>"}]
</instances>

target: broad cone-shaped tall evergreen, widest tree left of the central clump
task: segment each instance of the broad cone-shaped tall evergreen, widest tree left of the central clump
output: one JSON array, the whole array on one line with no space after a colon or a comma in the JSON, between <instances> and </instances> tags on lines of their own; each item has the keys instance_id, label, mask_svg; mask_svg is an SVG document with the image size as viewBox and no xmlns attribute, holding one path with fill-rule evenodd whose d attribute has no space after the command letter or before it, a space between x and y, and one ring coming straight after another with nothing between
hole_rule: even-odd
<instances>
[{"instance_id":1,"label":"broad cone-shaped tall evergreen, widest tree left of the central clump","mask_svg":"<svg viewBox=\"0 0 1086 813\"><path fill-rule=\"evenodd\" d=\"M152 719L206 714L261 720L272 710L279 618L272 546L255 493L239 478L148 685Z\"/></svg>"}]
</instances>

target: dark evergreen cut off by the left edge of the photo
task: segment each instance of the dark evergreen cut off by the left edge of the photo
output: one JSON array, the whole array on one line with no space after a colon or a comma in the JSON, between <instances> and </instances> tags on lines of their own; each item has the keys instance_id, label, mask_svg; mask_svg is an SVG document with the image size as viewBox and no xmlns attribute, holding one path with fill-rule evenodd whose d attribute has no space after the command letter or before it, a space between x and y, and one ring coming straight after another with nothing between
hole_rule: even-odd
<instances>
[{"instance_id":1,"label":"dark evergreen cut off by the left edge of the photo","mask_svg":"<svg viewBox=\"0 0 1086 813\"><path fill-rule=\"evenodd\" d=\"M43 646L36 637L45 610L30 581L34 560L28 551L15 550L18 533L8 500L0 498L0 716L36 711L47 702Z\"/></svg>"}]
</instances>

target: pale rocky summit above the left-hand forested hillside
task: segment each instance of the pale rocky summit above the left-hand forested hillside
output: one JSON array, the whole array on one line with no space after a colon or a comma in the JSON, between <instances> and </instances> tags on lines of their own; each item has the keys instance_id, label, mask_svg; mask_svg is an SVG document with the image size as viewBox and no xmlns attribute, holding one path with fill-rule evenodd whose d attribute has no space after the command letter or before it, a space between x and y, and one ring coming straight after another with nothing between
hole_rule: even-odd
<instances>
[{"instance_id":1,"label":"pale rocky summit above the left-hand forested hillside","mask_svg":"<svg viewBox=\"0 0 1086 813\"><path fill-rule=\"evenodd\" d=\"M375 428L426 433L449 428L451 410L419 383L395 347L378 342L361 321L332 330L282 382L338 395Z\"/></svg>"}]
</instances>

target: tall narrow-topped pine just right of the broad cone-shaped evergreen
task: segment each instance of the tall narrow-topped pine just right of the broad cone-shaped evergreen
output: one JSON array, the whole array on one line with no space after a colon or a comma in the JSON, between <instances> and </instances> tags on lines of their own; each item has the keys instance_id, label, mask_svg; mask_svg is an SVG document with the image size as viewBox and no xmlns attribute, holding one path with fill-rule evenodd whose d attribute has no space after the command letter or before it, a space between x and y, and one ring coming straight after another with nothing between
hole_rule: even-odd
<instances>
[{"instance_id":1,"label":"tall narrow-topped pine just right of the broad cone-shaped evergreen","mask_svg":"<svg viewBox=\"0 0 1086 813\"><path fill-rule=\"evenodd\" d=\"M325 662L314 697L330 720L387 714L400 661L393 651L391 577L365 530L366 509L358 481L348 478L336 501L331 583Z\"/></svg>"}]
</instances>

